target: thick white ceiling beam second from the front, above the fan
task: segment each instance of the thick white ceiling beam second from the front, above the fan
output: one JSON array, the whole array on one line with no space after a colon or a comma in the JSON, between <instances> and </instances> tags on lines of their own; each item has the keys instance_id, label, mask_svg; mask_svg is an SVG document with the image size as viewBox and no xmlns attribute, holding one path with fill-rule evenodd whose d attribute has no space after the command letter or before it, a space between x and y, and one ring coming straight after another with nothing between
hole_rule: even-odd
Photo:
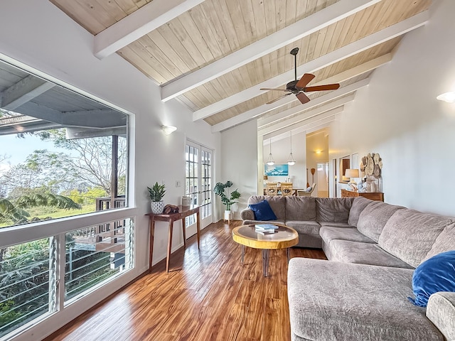
<instances>
[{"instance_id":1,"label":"thick white ceiling beam second from the front, above the fan","mask_svg":"<svg viewBox=\"0 0 455 341\"><path fill-rule=\"evenodd\" d=\"M369 6L377 4L380 0L341 0L336 4L326 7L311 16L301 19L280 31L255 41L245 48L235 51L225 58L216 60L189 75L179 78L168 85L161 87L161 100L166 102L184 92L203 85L216 77L246 65L264 55L278 50L296 40L300 40L311 33L317 32L332 23L362 11Z\"/></svg>"}]
</instances>

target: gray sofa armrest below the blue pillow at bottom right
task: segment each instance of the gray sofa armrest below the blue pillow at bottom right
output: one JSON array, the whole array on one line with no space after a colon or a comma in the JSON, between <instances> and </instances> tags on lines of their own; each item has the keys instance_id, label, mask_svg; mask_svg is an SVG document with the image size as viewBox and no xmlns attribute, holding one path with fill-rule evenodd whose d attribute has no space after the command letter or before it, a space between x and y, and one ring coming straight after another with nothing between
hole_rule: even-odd
<instances>
[{"instance_id":1,"label":"gray sofa armrest below the blue pillow at bottom right","mask_svg":"<svg viewBox=\"0 0 455 341\"><path fill-rule=\"evenodd\" d=\"M427 318L446 340L455 340L455 293L439 292L429 296Z\"/></svg>"}]
</instances>

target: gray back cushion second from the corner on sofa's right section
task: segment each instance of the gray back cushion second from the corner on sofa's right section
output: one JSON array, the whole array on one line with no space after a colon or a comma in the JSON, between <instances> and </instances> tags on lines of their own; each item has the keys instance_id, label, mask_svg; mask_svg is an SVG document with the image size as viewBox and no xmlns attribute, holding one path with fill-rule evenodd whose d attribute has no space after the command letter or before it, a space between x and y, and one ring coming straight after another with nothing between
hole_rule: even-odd
<instances>
[{"instance_id":1,"label":"gray back cushion second from the corner on sofa's right section","mask_svg":"<svg viewBox=\"0 0 455 341\"><path fill-rule=\"evenodd\" d=\"M360 212L357 222L357 229L375 242L379 241L379 236L387 220L405 207L386 204L382 201L372 201Z\"/></svg>"}]
</instances>

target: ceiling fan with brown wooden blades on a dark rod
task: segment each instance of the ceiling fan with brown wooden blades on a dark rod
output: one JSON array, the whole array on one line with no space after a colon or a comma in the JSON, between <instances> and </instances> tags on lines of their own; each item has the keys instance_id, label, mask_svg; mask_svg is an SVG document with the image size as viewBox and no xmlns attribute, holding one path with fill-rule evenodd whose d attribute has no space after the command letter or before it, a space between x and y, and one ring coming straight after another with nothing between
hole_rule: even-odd
<instances>
[{"instance_id":1,"label":"ceiling fan with brown wooden blades on a dark rod","mask_svg":"<svg viewBox=\"0 0 455 341\"><path fill-rule=\"evenodd\" d=\"M310 102L310 99L304 92L311 92L311 91L325 91L325 90L337 90L340 85L336 84L326 84L326 85L316 85L315 87L306 87L306 85L313 80L315 75L311 73L306 73L301 76L300 80L297 80L297 53L299 53L299 48L293 48L291 50L291 55L294 55L294 77L295 80L287 83L286 89L273 89L269 87L262 87L260 90L272 90L272 91L285 91L288 92L278 98L272 99L271 101L267 102L266 104L271 104L273 102L277 102L277 100L282 99L283 97L289 96L289 94L295 94L296 97L299 99L301 104L305 104Z\"/></svg>"}]
</instances>

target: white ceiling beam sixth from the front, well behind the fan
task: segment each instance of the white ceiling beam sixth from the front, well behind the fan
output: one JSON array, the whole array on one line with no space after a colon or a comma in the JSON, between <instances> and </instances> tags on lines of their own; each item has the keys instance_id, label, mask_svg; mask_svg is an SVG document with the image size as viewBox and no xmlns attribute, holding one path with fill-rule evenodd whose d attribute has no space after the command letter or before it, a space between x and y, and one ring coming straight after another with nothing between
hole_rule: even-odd
<instances>
[{"instance_id":1,"label":"white ceiling beam sixth from the front, well behind the fan","mask_svg":"<svg viewBox=\"0 0 455 341\"><path fill-rule=\"evenodd\" d=\"M343 107L344 104L353 101L354 98L355 98L355 94L350 94L346 97L336 99L335 101L324 104L321 107L317 107L315 109L311 109L311 110L302 112L301 114L296 115L294 117L290 117L289 119L283 119L282 121L276 122L274 124L269 124L268 126L264 126L264 128L258 129L257 134L260 134L260 135L270 134L274 131L278 131L280 129L286 128L287 126L291 126L291 125L299 123L301 121L305 121L306 119L309 119L311 117L316 117L317 115L319 115L323 112L328 112L329 110ZM294 108L288 109L287 111L292 112L295 115L295 114L298 114L299 112L301 112L301 109L299 110L299 107L294 107Z\"/></svg>"}]
</instances>

